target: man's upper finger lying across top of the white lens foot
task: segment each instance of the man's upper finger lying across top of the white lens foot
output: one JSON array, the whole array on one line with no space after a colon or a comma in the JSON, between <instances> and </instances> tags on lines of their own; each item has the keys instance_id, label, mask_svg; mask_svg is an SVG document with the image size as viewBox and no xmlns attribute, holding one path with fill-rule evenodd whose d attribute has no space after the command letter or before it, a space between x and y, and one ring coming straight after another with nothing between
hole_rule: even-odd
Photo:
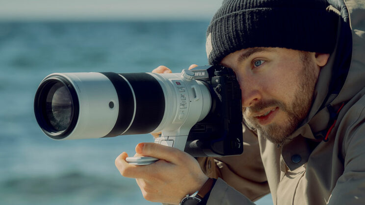
<instances>
[{"instance_id":1,"label":"man's upper finger lying across top of the white lens foot","mask_svg":"<svg viewBox=\"0 0 365 205\"><path fill-rule=\"evenodd\" d=\"M181 164L184 163L187 158L192 158L179 149L157 143L139 143L135 147L135 151L143 156L164 159L174 164Z\"/></svg>"}]
</instances>

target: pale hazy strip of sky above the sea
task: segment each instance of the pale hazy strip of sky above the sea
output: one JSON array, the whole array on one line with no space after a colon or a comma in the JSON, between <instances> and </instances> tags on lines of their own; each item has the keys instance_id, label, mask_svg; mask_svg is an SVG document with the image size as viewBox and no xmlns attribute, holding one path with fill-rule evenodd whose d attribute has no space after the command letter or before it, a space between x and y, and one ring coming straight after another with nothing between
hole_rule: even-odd
<instances>
[{"instance_id":1,"label":"pale hazy strip of sky above the sea","mask_svg":"<svg viewBox=\"0 0 365 205\"><path fill-rule=\"evenodd\" d=\"M4 21L210 20L222 0L0 0Z\"/></svg>"}]
</instances>

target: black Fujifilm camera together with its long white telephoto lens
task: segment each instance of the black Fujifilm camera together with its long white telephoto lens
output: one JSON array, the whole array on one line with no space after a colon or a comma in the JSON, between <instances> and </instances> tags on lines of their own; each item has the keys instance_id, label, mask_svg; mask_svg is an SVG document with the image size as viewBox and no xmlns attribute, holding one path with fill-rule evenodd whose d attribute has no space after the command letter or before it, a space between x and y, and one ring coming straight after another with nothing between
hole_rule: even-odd
<instances>
[{"instance_id":1,"label":"black Fujifilm camera together with its long white telephoto lens","mask_svg":"<svg viewBox=\"0 0 365 205\"><path fill-rule=\"evenodd\" d=\"M219 65L182 73L52 73L40 83L34 113L56 140L162 132L155 142L193 157L239 155L241 91Z\"/></svg>"}]
</instances>

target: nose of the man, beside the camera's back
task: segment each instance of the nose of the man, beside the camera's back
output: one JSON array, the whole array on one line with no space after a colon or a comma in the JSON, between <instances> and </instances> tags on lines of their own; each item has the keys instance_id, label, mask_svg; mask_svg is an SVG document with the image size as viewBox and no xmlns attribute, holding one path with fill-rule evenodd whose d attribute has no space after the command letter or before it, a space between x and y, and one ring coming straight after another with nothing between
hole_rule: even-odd
<instances>
[{"instance_id":1,"label":"nose of the man, beside the camera's back","mask_svg":"<svg viewBox=\"0 0 365 205\"><path fill-rule=\"evenodd\" d=\"M262 98L258 83L247 77L237 77L241 88L242 106L250 107L259 102Z\"/></svg>"}]
</instances>

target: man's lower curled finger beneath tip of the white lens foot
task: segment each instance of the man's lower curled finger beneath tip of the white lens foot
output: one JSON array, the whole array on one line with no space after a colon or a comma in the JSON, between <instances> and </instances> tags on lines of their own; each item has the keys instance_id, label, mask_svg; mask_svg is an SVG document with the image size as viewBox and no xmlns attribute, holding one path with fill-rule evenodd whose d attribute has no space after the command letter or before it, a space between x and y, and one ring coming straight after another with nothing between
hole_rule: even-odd
<instances>
[{"instance_id":1,"label":"man's lower curled finger beneath tip of the white lens foot","mask_svg":"<svg viewBox=\"0 0 365 205\"><path fill-rule=\"evenodd\" d=\"M148 173L151 171L150 166L136 166L129 164L126 161L127 157L127 153L123 152L115 159L115 166L123 177L140 179L148 179L150 177L148 175Z\"/></svg>"}]
</instances>

